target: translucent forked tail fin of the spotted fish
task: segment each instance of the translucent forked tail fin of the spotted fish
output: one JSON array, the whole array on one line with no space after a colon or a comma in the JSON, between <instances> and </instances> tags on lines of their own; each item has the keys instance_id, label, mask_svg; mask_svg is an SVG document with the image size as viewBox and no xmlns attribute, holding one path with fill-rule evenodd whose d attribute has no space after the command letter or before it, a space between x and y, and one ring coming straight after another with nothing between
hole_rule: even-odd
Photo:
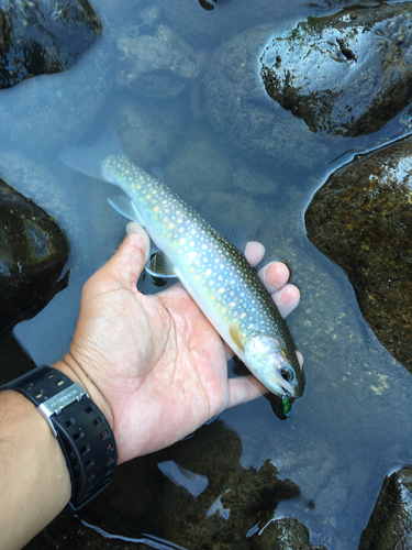
<instances>
[{"instance_id":1,"label":"translucent forked tail fin of the spotted fish","mask_svg":"<svg viewBox=\"0 0 412 550\"><path fill-rule=\"evenodd\" d=\"M109 127L104 134L92 145L65 147L58 154L59 160L70 168L91 177L107 180L101 166L108 156L125 154L114 128Z\"/></svg>"}]
</instances>

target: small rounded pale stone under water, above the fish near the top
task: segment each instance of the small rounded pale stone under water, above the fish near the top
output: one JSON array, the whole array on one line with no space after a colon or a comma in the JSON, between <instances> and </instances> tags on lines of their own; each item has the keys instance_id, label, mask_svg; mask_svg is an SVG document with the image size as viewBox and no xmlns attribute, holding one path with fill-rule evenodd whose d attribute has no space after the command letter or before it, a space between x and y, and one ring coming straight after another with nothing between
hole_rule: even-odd
<instances>
[{"instance_id":1,"label":"small rounded pale stone under water, above the fish near the top","mask_svg":"<svg viewBox=\"0 0 412 550\"><path fill-rule=\"evenodd\" d=\"M130 28L127 36L118 40L116 47L116 81L141 96L177 96L198 74L191 47L163 24Z\"/></svg>"}]
</instances>

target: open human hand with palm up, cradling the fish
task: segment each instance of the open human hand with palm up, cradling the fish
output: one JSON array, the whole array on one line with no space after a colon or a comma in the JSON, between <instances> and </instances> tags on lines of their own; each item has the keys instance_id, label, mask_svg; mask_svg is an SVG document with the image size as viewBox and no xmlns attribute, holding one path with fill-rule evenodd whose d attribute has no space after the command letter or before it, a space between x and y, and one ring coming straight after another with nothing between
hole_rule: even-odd
<instances>
[{"instance_id":1,"label":"open human hand with palm up, cradling the fish","mask_svg":"<svg viewBox=\"0 0 412 550\"><path fill-rule=\"evenodd\" d=\"M131 223L113 257L85 284L69 353L54 366L81 384L110 422L119 463L170 446L218 413L267 389L252 375L227 380L229 349L180 284L137 290L149 252ZM248 243L252 265L265 250ZM260 270L286 317L300 293L279 262ZM300 358L301 361L301 358Z\"/></svg>"}]
</instances>

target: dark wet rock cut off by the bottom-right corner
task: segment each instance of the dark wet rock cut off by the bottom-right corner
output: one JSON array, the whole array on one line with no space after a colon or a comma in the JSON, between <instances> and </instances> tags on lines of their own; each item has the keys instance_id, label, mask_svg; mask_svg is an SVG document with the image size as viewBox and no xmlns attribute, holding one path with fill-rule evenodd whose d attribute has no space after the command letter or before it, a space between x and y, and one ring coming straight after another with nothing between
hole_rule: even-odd
<instances>
[{"instance_id":1,"label":"dark wet rock cut off by the bottom-right corner","mask_svg":"<svg viewBox=\"0 0 412 550\"><path fill-rule=\"evenodd\" d=\"M385 479L359 550L412 548L412 469L402 468Z\"/></svg>"}]
</instances>

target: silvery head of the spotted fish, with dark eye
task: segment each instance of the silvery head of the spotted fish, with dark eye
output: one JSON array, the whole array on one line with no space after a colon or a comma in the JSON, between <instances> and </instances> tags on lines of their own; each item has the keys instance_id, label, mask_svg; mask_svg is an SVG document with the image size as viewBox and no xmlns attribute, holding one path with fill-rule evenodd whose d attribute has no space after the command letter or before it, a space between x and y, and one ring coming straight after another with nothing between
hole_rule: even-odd
<instances>
[{"instance_id":1,"label":"silvery head of the spotted fish, with dark eye","mask_svg":"<svg viewBox=\"0 0 412 550\"><path fill-rule=\"evenodd\" d=\"M263 334L252 337L245 345L244 358L249 371L271 393L290 400L302 396L303 370L294 351L293 356L288 356L278 339Z\"/></svg>"}]
</instances>

